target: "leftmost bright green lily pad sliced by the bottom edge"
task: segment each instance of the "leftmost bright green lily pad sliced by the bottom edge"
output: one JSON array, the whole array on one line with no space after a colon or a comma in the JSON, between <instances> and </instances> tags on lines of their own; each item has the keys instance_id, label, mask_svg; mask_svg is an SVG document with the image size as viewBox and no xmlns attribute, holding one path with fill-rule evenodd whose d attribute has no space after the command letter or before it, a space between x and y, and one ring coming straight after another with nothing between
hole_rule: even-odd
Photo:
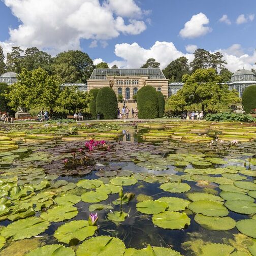
<instances>
[{"instance_id":1,"label":"leftmost bright green lily pad sliced by the bottom edge","mask_svg":"<svg viewBox=\"0 0 256 256\"><path fill-rule=\"evenodd\" d=\"M39 247L33 251L28 252L24 256L75 256L73 249L65 247L61 244L51 244Z\"/></svg>"}]
</instances>

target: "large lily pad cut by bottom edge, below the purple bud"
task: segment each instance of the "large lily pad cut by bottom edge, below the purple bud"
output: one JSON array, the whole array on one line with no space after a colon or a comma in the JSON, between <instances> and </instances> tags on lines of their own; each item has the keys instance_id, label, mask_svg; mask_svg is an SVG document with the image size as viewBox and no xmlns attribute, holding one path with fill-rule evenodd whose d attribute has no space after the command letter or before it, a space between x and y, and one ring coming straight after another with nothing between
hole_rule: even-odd
<instances>
[{"instance_id":1,"label":"large lily pad cut by bottom edge, below the purple bud","mask_svg":"<svg viewBox=\"0 0 256 256\"><path fill-rule=\"evenodd\" d=\"M84 241L77 249L77 256L122 256L125 250L124 243L109 236L98 236Z\"/></svg>"}]
</instances>

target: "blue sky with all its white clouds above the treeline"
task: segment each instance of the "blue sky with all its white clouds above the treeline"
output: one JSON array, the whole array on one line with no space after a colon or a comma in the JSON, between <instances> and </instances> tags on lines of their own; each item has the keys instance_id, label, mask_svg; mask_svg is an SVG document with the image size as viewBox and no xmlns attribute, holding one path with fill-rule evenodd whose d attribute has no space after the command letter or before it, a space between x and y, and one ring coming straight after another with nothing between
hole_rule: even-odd
<instances>
[{"instance_id":1,"label":"blue sky with all its white clouds above the treeline","mask_svg":"<svg viewBox=\"0 0 256 256\"><path fill-rule=\"evenodd\" d=\"M255 0L2 0L0 45L81 49L119 67L154 57L162 68L204 48L220 50L235 71L255 68L254 14Z\"/></svg>"}]
</instances>

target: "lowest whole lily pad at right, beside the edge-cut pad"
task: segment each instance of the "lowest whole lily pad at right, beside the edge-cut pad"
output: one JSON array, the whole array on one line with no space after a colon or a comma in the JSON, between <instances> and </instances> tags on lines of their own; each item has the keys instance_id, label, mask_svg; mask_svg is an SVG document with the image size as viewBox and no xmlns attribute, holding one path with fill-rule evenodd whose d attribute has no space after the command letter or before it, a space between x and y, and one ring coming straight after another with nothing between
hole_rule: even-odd
<instances>
[{"instance_id":1,"label":"lowest whole lily pad at right, beside the edge-cut pad","mask_svg":"<svg viewBox=\"0 0 256 256\"><path fill-rule=\"evenodd\" d=\"M231 217L209 217L196 214L195 221L208 230L231 230L236 227L236 221Z\"/></svg>"}]
</instances>

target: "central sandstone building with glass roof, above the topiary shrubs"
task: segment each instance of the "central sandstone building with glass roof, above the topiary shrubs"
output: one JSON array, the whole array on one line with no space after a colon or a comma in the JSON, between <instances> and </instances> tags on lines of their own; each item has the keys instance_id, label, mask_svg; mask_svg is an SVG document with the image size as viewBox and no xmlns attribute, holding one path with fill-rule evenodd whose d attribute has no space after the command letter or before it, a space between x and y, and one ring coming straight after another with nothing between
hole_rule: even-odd
<instances>
[{"instance_id":1,"label":"central sandstone building with glass roof, above the topiary shrubs","mask_svg":"<svg viewBox=\"0 0 256 256\"><path fill-rule=\"evenodd\" d=\"M161 69L94 69L87 80L87 89L111 87L116 95L133 100L138 90L151 85L168 97L168 79Z\"/></svg>"}]
</instances>

